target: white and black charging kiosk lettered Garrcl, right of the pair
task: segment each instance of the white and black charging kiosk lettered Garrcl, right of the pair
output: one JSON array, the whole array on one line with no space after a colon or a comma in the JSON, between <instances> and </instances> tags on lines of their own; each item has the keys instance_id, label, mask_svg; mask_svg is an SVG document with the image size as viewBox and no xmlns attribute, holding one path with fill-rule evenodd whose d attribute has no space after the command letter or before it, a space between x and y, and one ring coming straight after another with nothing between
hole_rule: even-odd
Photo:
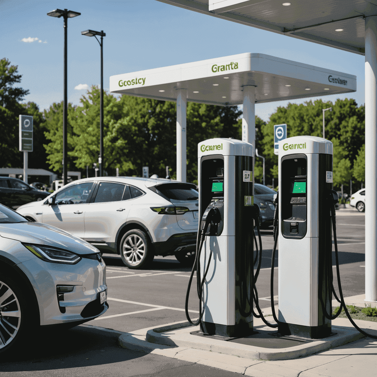
<instances>
[{"instance_id":1,"label":"white and black charging kiosk lettered Garrcl, right of the pair","mask_svg":"<svg viewBox=\"0 0 377 377\"><path fill-rule=\"evenodd\" d=\"M315 136L279 141L279 333L331 335L333 143ZM330 256L330 257L329 257ZM328 265L330 264L330 265Z\"/></svg>"}]
</instances>

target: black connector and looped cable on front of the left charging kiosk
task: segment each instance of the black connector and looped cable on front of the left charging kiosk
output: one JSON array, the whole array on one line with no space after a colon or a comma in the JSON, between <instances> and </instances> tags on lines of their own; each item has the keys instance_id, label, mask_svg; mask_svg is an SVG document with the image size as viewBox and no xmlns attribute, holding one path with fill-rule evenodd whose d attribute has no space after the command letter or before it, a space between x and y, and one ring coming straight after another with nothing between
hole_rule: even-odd
<instances>
[{"instance_id":1,"label":"black connector and looped cable on front of the left charging kiosk","mask_svg":"<svg viewBox=\"0 0 377 377\"><path fill-rule=\"evenodd\" d=\"M194 326L199 325L204 314L204 311L202 311L202 293L203 293L203 285L205 282L205 278L207 277L208 269L210 267L210 262L212 259L212 250L210 250L210 254L208 256L207 268L205 268L202 279L201 279L201 270L200 270L200 255L201 255L203 244L205 241L205 236L216 236L220 221L221 221L221 214L218 208L216 207L207 208L201 219L201 227L198 231L198 236L196 239L197 241L196 241L195 261L192 266L189 284L187 286L187 291L186 291L186 300L185 300L186 318ZM200 234L200 240L199 240L199 234ZM190 288L191 288L191 283L192 283L195 270L196 270L196 288L198 291L198 298L199 298L199 318L196 322L193 322L189 315L189 296L190 296Z\"/></svg>"}]
</instances>

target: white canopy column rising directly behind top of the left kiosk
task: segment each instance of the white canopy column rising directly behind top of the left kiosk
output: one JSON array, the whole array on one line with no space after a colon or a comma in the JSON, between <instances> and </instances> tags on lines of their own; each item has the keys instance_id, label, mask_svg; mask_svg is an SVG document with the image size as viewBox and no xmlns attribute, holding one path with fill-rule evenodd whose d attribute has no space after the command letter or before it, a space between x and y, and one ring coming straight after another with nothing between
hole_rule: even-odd
<instances>
[{"instance_id":1,"label":"white canopy column rising directly behind top of the left kiosk","mask_svg":"<svg viewBox=\"0 0 377 377\"><path fill-rule=\"evenodd\" d=\"M255 86L244 86L243 91L242 141L253 144L253 150L255 151Z\"/></svg>"}]
</instances>

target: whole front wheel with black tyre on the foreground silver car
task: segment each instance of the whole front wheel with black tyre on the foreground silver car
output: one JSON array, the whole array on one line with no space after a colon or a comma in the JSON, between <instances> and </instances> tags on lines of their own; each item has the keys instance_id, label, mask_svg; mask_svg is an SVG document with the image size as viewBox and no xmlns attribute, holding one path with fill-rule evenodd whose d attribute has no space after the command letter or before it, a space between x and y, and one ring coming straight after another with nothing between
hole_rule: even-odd
<instances>
[{"instance_id":1,"label":"whole front wheel with black tyre on the foreground silver car","mask_svg":"<svg viewBox=\"0 0 377 377\"><path fill-rule=\"evenodd\" d=\"M27 291L21 291L11 277L0 277L0 354L11 351L30 336L37 326L33 321L31 303L26 300Z\"/></svg>"}]
</instances>

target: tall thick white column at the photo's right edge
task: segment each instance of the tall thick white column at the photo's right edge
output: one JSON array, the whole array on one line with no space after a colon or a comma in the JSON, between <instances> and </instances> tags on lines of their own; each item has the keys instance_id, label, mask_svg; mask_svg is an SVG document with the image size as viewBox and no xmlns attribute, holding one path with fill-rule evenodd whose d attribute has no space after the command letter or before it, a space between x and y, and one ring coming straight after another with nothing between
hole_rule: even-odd
<instances>
[{"instance_id":1,"label":"tall thick white column at the photo's right edge","mask_svg":"<svg viewBox=\"0 0 377 377\"><path fill-rule=\"evenodd\" d=\"M377 300L377 16L365 19L365 300Z\"/></svg>"}]
</instances>

